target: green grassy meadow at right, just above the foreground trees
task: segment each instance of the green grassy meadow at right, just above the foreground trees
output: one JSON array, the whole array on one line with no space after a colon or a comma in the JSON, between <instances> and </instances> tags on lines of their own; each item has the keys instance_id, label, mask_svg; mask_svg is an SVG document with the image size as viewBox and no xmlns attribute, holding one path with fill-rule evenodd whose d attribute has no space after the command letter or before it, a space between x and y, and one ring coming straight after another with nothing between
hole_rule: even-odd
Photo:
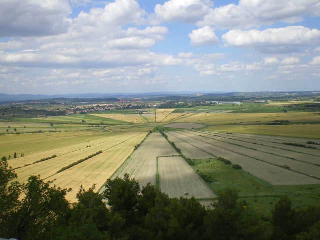
<instances>
[{"instance_id":1,"label":"green grassy meadow at right, just above the foreground trees","mask_svg":"<svg viewBox=\"0 0 320 240\"><path fill-rule=\"evenodd\" d=\"M225 187L233 187L239 191L239 201L247 202L247 209L259 212L269 218L281 196L289 196L293 207L303 208L305 205L317 205L320 201L320 185L272 186L243 170L235 170L231 165L212 159L193 160L193 169L197 173L209 176L214 182L208 183L213 192Z\"/></svg>"}]
</instances>

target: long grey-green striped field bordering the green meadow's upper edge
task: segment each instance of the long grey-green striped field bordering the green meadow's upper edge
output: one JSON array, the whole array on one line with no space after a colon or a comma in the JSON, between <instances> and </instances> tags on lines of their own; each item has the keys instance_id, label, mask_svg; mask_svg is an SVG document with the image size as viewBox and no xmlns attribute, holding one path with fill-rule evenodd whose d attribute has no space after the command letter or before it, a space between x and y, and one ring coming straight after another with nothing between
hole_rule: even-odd
<instances>
[{"instance_id":1,"label":"long grey-green striped field bordering the green meadow's upper edge","mask_svg":"<svg viewBox=\"0 0 320 240\"><path fill-rule=\"evenodd\" d=\"M222 142L222 139L212 139L213 137L202 136L205 133L194 131L179 131L170 132L171 135L187 141L193 146L212 154L212 156L220 156L230 160L233 164L239 164L242 169L250 174L260 178L261 180L270 183L271 185L301 185L301 184L319 184L320 181L314 178L316 170L320 166L314 164L296 161L293 166L295 170L288 170L281 166L279 162L266 161L268 156L272 158L273 155L259 151L258 145L256 150L248 149L247 147L236 146L227 142ZM179 147L178 144L176 144ZM273 148L270 148L270 152ZM183 153L183 151L182 151ZM183 153L184 154L184 153ZM281 158L285 161L292 160L289 158ZM276 163L276 164L275 164ZM306 168L303 169L302 168ZM303 172L302 172L303 171ZM313 174L314 173L314 174Z\"/></svg>"}]
</instances>

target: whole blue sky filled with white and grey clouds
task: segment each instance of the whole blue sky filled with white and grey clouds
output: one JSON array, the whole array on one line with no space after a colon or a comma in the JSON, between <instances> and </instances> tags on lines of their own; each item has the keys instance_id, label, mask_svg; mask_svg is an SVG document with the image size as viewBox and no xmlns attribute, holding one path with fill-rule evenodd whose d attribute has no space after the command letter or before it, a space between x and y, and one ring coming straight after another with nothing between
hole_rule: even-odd
<instances>
[{"instance_id":1,"label":"whole blue sky filled with white and grey clouds","mask_svg":"<svg viewBox=\"0 0 320 240\"><path fill-rule=\"evenodd\" d=\"M0 93L314 90L319 0L0 0Z\"/></svg>"}]
</instances>

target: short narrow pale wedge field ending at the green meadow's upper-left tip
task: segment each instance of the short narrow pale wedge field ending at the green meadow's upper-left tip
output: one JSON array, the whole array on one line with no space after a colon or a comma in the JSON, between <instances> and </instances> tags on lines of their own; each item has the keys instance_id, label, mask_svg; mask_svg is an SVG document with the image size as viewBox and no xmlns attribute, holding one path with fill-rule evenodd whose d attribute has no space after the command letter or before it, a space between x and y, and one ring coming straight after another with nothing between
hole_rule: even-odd
<instances>
[{"instance_id":1,"label":"short narrow pale wedge field ending at the green meadow's upper-left tip","mask_svg":"<svg viewBox=\"0 0 320 240\"><path fill-rule=\"evenodd\" d=\"M171 142L174 142L174 144L181 149L185 157L190 159L206 159L212 157L212 155L207 152L189 144L187 141L183 141L180 138L173 136L171 133L172 132L166 132L165 134Z\"/></svg>"}]
</instances>

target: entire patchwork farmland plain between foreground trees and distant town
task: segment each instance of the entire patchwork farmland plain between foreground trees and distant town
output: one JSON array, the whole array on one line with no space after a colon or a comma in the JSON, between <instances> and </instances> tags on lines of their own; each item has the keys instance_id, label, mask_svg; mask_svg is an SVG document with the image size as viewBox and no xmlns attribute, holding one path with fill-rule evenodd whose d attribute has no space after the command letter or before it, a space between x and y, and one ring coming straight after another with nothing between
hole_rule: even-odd
<instances>
[{"instance_id":1,"label":"entire patchwork farmland plain between foreground trees and distant town","mask_svg":"<svg viewBox=\"0 0 320 240\"><path fill-rule=\"evenodd\" d=\"M240 197L258 205L253 201L257 197L266 209L271 196L299 192L293 202L299 206L319 199L313 192L320 186L320 147L306 142L320 143L320 115L305 109L284 113L283 108L292 106L266 102L143 108L2 121L0 152L9 158L20 182L31 174L55 179L57 186L73 189L67 195L71 202L80 185L96 184L103 190L108 178L129 173L140 186L151 182L172 197L211 201L222 187L233 186ZM234 170L217 157L242 169ZM50 159L39 161L45 158Z\"/></svg>"}]
</instances>

